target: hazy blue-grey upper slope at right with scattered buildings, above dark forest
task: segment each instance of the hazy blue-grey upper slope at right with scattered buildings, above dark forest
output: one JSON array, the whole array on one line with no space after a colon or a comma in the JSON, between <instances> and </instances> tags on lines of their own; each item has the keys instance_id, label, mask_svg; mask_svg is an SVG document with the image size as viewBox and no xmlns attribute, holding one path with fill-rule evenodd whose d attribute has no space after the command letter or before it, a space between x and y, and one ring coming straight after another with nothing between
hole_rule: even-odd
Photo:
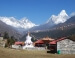
<instances>
[{"instance_id":1,"label":"hazy blue-grey upper slope at right with scattered buildings, above dark forest","mask_svg":"<svg viewBox=\"0 0 75 58\"><path fill-rule=\"evenodd\" d=\"M71 29L75 27L75 16L69 18L66 22L53 26L54 29Z\"/></svg>"}]
</instances>

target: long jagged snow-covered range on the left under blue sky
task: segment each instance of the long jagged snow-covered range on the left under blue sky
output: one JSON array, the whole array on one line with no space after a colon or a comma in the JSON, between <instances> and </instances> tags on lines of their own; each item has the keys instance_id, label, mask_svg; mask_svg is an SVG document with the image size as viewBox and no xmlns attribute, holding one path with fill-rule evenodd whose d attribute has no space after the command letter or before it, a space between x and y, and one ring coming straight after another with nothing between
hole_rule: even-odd
<instances>
[{"instance_id":1,"label":"long jagged snow-covered range on the left under blue sky","mask_svg":"<svg viewBox=\"0 0 75 58\"><path fill-rule=\"evenodd\" d=\"M14 17L0 17L0 20L7 25L20 29L29 29L36 26L34 23L29 21L27 18L21 20L15 19Z\"/></svg>"}]
</instances>

